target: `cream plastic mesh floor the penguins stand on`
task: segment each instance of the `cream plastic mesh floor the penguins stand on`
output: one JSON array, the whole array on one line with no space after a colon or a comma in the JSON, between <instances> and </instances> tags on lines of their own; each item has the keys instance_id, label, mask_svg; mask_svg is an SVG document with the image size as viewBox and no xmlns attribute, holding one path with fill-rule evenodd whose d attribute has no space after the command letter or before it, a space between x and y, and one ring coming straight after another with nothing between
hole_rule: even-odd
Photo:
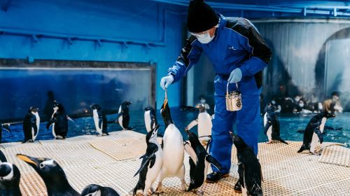
<instances>
[{"instance_id":1,"label":"cream plastic mesh floor the penguins stand on","mask_svg":"<svg viewBox=\"0 0 350 196\"><path fill-rule=\"evenodd\" d=\"M123 131L112 132L109 137L82 136L65 141L2 144L1 151L20 169L22 195L46 195L46 188L34 169L15 157L17 153L56 160L79 192L97 183L114 188L120 195L130 195L138 181L138 176L133 176L141 164L139 157L146 151L144 140L143 134ZM350 195L350 167L319 162L318 155L296 153L300 146L301 142L293 141L289 141L289 145L259 144L264 195ZM334 151L338 147L328 148ZM329 155L328 148L324 151ZM338 154L332 159L344 162ZM188 155L185 156L186 181L189 182ZM230 177L219 183L205 183L202 186L204 195L241 195L233 191L238 177L236 171L236 149L232 147ZM163 183L165 193L162 195L195 195L181 191L179 179L165 179Z\"/></svg>"}]
</instances>

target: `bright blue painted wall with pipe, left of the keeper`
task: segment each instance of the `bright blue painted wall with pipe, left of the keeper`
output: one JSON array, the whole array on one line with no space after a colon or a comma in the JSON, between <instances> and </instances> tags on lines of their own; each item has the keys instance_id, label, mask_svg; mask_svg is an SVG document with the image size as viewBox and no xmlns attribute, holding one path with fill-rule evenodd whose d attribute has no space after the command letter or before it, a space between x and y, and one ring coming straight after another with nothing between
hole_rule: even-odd
<instances>
[{"instance_id":1,"label":"bright blue painted wall with pipe, left of the keeper","mask_svg":"<svg viewBox=\"0 0 350 196\"><path fill-rule=\"evenodd\" d=\"M137 0L10 1L0 10L0 58L155 62L156 97L162 102L160 78L179 55L186 9ZM180 84L170 88L169 102L179 106Z\"/></svg>"}]
</instances>

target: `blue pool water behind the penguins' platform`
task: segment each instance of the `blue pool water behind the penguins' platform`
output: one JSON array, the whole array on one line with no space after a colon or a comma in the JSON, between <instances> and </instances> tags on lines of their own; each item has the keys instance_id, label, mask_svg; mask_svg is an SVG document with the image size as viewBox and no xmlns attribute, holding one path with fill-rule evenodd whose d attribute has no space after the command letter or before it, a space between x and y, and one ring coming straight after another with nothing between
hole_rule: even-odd
<instances>
[{"instance_id":1,"label":"blue pool water behind the penguins' platform","mask_svg":"<svg viewBox=\"0 0 350 196\"><path fill-rule=\"evenodd\" d=\"M172 118L176 126L182 131L184 127L188 125L192 120L197 118L197 111L181 111L180 109L172 109ZM107 118L109 120L115 120L116 114L109 115ZM146 128L144 126L144 112L130 112L130 125L134 127L134 130L141 133L146 133ZM307 123L309 123L311 116L280 116L281 124L281 138L291 141L302 141L303 134L297 133L297 130L303 130ZM92 117L76 118L76 123L69 121L69 132L68 137L75 137L84 134L96 134L94 130L94 122ZM326 125L331 127L342 127L342 130L329 130L325 136L324 141L339 142L346 144L350 147L350 113L342 113L337 115L336 118L332 118L327 121ZM160 134L164 133L164 123L160 117L158 111L158 123L160 123ZM46 130L46 123L41 123L38 140L53 139L51 129ZM8 132L3 132L2 142L13 142L22 141L23 131L22 124L11 125L10 129L12 134ZM121 128L116 123L109 124L109 132L120 131ZM195 130L195 129L194 129ZM195 130L197 131L197 130ZM186 137L183 132L184 137ZM261 132L259 135L259 141L267 141L267 137L263 133L261 126Z\"/></svg>"}]
</instances>

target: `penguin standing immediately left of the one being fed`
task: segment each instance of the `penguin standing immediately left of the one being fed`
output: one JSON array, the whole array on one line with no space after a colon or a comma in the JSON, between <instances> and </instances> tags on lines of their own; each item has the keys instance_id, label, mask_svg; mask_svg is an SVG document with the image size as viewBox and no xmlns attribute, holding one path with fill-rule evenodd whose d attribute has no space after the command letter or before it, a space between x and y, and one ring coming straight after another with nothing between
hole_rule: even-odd
<instances>
[{"instance_id":1,"label":"penguin standing immediately left of the one being fed","mask_svg":"<svg viewBox=\"0 0 350 196\"><path fill-rule=\"evenodd\" d=\"M133 195L136 195L137 190L142 190L144 196L148 194L148 190L150 189L153 193L153 183L157 179L163 163L162 148L157 141L158 128L159 125L156 125L151 132L148 132L146 135L146 154L141 156L141 158L143 158L141 167L134 175L137 176L137 174L140 174Z\"/></svg>"}]
</instances>

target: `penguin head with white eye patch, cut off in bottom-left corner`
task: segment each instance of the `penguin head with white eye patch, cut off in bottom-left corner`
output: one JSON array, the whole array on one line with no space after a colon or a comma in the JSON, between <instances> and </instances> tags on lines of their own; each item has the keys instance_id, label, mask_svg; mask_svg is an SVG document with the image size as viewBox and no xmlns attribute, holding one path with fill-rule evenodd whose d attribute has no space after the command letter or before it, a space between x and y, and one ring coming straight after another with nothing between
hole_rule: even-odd
<instances>
[{"instance_id":1,"label":"penguin head with white eye patch, cut off in bottom-left corner","mask_svg":"<svg viewBox=\"0 0 350 196\"><path fill-rule=\"evenodd\" d=\"M12 163L0 163L0 196L20 195L20 170Z\"/></svg>"}]
</instances>

